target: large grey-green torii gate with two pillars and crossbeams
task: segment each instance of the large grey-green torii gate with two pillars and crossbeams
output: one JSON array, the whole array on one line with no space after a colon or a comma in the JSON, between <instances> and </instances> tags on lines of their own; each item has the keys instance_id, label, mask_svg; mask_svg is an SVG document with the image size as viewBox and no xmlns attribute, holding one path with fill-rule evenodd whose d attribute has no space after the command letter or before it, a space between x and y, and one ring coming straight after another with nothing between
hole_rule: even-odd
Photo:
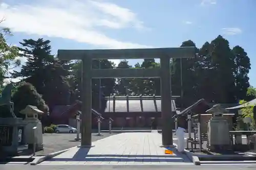
<instances>
[{"instance_id":1,"label":"large grey-green torii gate with two pillars and crossbeams","mask_svg":"<svg viewBox=\"0 0 256 170\"><path fill-rule=\"evenodd\" d=\"M160 78L162 146L173 145L172 90L170 58L193 58L195 47L141 48L117 50L58 50L61 60L82 60L81 147L92 147L92 79L101 78ZM92 60L160 58L160 68L92 69Z\"/></svg>"}]
</instances>

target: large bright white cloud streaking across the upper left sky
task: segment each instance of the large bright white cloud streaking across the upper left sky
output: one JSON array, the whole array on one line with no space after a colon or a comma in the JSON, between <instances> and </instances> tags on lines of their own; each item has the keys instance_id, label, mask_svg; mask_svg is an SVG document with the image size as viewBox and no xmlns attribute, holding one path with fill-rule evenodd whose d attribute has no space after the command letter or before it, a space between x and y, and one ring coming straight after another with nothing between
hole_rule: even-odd
<instances>
[{"instance_id":1,"label":"large bright white cloud streaking across the upper left sky","mask_svg":"<svg viewBox=\"0 0 256 170\"><path fill-rule=\"evenodd\" d=\"M29 5L19 3L14 6L0 3L2 16L6 20L1 26L10 28L12 32L71 39L97 48L152 47L106 36L103 29L147 28L130 9L103 1L36 0ZM119 63L119 60L113 61Z\"/></svg>"}]
</instances>

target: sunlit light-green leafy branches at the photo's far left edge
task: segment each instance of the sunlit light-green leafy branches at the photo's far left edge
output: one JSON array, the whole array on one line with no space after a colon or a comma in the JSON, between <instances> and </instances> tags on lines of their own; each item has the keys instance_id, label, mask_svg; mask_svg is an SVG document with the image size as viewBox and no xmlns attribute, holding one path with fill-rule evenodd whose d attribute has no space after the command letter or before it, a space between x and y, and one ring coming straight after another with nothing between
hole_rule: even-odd
<instances>
[{"instance_id":1,"label":"sunlit light-green leafy branches at the photo's far left edge","mask_svg":"<svg viewBox=\"0 0 256 170\"><path fill-rule=\"evenodd\" d=\"M20 65L20 60L17 59L18 48L7 43L8 36L13 36L10 29L4 28L0 30L0 85L3 84L10 65L14 64L13 67Z\"/></svg>"}]
</instances>

